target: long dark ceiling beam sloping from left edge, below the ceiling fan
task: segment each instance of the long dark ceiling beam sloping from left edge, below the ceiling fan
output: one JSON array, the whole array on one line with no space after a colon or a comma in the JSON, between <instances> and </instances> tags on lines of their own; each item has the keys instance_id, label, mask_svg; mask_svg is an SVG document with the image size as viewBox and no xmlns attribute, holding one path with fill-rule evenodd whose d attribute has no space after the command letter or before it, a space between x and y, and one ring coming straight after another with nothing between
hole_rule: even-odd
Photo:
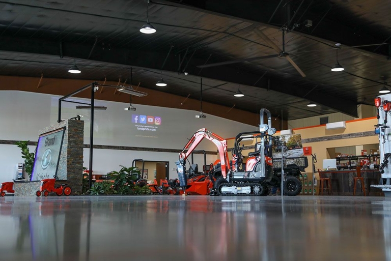
<instances>
[{"instance_id":1,"label":"long dark ceiling beam sloping from left edge, below the ceiling fan","mask_svg":"<svg viewBox=\"0 0 391 261\"><path fill-rule=\"evenodd\" d=\"M34 53L44 55L54 55L60 58L60 49L58 42L45 41L41 39L21 39L15 37L0 37L0 50L20 53ZM89 44L62 43L62 54L75 59L87 60L91 52ZM91 54L90 60L103 63L128 65L138 68L161 70L161 66L166 59L167 53L158 53L152 51L116 49L95 51ZM179 61L174 54L170 55L164 65L164 71L177 72ZM224 82L233 82L241 85L256 86L258 88L270 89L276 92L289 94L296 97L304 97L311 92L310 88L295 86L291 83L285 83L278 79L271 79L270 84L266 77L260 77L262 74L248 72L238 72L235 67L219 66L201 70L196 67L205 63L204 60L191 60L191 64L186 71L191 75L199 77L216 79ZM305 96L305 99L322 104L326 107L341 111L343 113L357 117L356 103L354 101L342 100L338 97L326 95L320 92L311 92ZM257 109L255 108L255 111Z\"/></svg>"}]
</instances>

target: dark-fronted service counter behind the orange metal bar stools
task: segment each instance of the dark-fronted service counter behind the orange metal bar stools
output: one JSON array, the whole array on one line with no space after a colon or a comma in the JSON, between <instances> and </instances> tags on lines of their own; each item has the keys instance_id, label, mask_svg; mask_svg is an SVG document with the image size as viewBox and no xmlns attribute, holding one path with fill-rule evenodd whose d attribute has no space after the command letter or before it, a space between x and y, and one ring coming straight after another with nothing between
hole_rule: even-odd
<instances>
[{"instance_id":1,"label":"dark-fronted service counter behind the orange metal bar stools","mask_svg":"<svg viewBox=\"0 0 391 261\"><path fill-rule=\"evenodd\" d=\"M320 171L320 175L326 178L331 178L332 195L353 196L353 178L357 177L355 169L351 170L328 170ZM381 174L377 169L361 169L361 177L364 177L365 189L368 196L384 196L381 189L372 188L371 185L378 185L381 179ZM320 190L319 190L320 191ZM323 195L327 195L324 190ZM361 191L361 182L357 182L356 196L364 196Z\"/></svg>"}]
</instances>

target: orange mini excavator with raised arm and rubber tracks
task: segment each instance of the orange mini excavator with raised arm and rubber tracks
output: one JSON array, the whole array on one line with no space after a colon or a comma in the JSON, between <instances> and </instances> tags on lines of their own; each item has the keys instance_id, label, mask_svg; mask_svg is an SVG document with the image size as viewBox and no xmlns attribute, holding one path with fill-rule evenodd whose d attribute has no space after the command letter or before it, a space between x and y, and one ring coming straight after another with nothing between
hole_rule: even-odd
<instances>
[{"instance_id":1,"label":"orange mini excavator with raised arm and rubber tracks","mask_svg":"<svg viewBox=\"0 0 391 261\"><path fill-rule=\"evenodd\" d=\"M268 124L263 124L264 114ZM229 160L227 141L207 129L200 129L193 134L175 162L180 186L186 190L186 159L191 155L200 142L206 138L215 144L219 160L209 170L209 179L212 182L211 195L267 195L270 188L268 183L273 177L273 163L271 159L271 135L275 129L271 128L271 114L267 109L260 111L259 131L242 132L236 135L235 146L232 151L232 161ZM240 141L247 138L256 139L255 151L248 154L243 167L243 146ZM186 192L185 192L186 193Z\"/></svg>"}]
</instances>

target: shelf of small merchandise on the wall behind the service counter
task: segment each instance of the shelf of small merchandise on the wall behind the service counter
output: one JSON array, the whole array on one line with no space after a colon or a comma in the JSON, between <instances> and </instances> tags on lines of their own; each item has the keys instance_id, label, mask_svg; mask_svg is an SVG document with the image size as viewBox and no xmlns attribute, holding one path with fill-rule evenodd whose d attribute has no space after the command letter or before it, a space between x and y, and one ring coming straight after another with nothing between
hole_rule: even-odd
<instances>
[{"instance_id":1,"label":"shelf of small merchandise on the wall behind the service counter","mask_svg":"<svg viewBox=\"0 0 391 261\"><path fill-rule=\"evenodd\" d=\"M374 168L379 168L380 156L378 154L336 157L337 169L353 169L357 166L370 167L373 164Z\"/></svg>"}]
</instances>

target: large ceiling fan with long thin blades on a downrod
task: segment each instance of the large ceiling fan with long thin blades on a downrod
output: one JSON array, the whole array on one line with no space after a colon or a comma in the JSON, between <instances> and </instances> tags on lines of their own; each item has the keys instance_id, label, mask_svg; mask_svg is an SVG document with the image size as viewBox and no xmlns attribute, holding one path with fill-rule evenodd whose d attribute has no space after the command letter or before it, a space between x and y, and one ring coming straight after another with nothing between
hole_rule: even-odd
<instances>
[{"instance_id":1,"label":"large ceiling fan with long thin blades on a downrod","mask_svg":"<svg viewBox=\"0 0 391 261\"><path fill-rule=\"evenodd\" d=\"M278 47L275 43L273 43L270 38L268 38L259 28L256 28L256 31L262 39L270 45L271 48L273 48L277 54L272 54L272 55L266 55L266 56L257 56L257 57L250 57L247 59L241 59L241 60L234 60L234 61L227 61L227 62L221 62L221 63L214 63L214 64L207 64L207 65L200 65L197 66L198 68L209 68L209 67L215 67L215 66L221 66L221 65L229 65L229 64L236 64L236 63L241 63L241 62L250 62L250 61L255 61L255 60L261 60L261 59L268 59L268 58L274 58L274 57L280 57L280 58L285 58L288 60L288 62L296 69L298 73L302 77L305 77L305 74L303 71L297 66L295 62L289 57L289 53L285 51L285 34L288 31L288 27L282 27L281 31L283 32L283 49L281 50L280 47Z\"/></svg>"}]
</instances>

